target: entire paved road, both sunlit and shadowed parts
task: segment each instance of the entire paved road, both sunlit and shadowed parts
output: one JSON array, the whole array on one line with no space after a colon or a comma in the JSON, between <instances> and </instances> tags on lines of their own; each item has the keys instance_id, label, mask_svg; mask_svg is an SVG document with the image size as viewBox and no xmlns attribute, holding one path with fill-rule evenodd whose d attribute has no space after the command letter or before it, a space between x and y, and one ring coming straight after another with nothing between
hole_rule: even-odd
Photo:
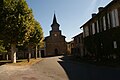
<instances>
[{"instance_id":1,"label":"entire paved road, both sunlit and shadowed parts","mask_svg":"<svg viewBox=\"0 0 120 80\"><path fill-rule=\"evenodd\" d=\"M0 66L0 80L120 80L120 69L77 63L58 56L44 58L32 66Z\"/></svg>"}]
</instances>

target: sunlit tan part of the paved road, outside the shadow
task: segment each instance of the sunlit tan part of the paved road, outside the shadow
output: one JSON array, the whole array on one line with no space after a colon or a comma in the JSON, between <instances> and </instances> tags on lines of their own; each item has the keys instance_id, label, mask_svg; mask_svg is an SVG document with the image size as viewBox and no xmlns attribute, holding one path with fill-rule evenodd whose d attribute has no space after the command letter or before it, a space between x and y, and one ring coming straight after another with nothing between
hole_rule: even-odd
<instances>
[{"instance_id":1,"label":"sunlit tan part of the paved road, outside the shadow","mask_svg":"<svg viewBox=\"0 0 120 80\"><path fill-rule=\"evenodd\" d=\"M0 80L69 80L59 57L44 58L32 66L0 66Z\"/></svg>"}]
</instances>

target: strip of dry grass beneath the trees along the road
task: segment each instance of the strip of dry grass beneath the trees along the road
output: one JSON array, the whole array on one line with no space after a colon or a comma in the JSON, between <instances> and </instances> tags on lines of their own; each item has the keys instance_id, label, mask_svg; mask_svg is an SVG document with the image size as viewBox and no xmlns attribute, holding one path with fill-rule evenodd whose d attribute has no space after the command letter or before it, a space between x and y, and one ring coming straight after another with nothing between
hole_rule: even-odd
<instances>
[{"instance_id":1,"label":"strip of dry grass beneath the trees along the road","mask_svg":"<svg viewBox=\"0 0 120 80\"><path fill-rule=\"evenodd\" d=\"M20 59L17 60L17 63L11 63L10 60L2 60L0 61L0 65L27 66L27 65L36 64L41 60L42 58L30 59L30 62L28 62L27 59Z\"/></svg>"}]
</instances>

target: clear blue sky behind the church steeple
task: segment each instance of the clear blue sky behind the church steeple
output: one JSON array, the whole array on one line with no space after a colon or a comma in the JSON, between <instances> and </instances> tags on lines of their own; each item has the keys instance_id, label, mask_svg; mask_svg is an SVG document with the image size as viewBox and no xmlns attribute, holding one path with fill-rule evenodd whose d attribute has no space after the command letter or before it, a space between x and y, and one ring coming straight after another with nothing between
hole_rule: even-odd
<instances>
[{"instance_id":1,"label":"clear blue sky behind the church steeple","mask_svg":"<svg viewBox=\"0 0 120 80\"><path fill-rule=\"evenodd\" d=\"M26 0L33 10L35 19L40 23L44 36L49 36L54 13L60 24L66 41L81 33L92 13L98 13L99 7L105 7L112 0Z\"/></svg>"}]
</instances>

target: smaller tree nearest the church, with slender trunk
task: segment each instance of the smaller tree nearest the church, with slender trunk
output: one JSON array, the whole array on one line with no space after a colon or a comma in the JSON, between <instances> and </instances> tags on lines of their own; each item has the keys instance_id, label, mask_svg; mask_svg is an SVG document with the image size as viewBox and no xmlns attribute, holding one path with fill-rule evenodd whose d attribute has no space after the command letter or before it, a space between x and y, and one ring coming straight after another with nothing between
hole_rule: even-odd
<instances>
[{"instance_id":1,"label":"smaller tree nearest the church, with slender trunk","mask_svg":"<svg viewBox=\"0 0 120 80\"><path fill-rule=\"evenodd\" d=\"M43 39L43 30L41 28L41 25L39 24L39 22L35 21L35 30L34 32L31 33L31 37L29 39L29 43L35 45L35 59L37 58L37 48L38 45L40 44L40 42Z\"/></svg>"}]
</instances>

